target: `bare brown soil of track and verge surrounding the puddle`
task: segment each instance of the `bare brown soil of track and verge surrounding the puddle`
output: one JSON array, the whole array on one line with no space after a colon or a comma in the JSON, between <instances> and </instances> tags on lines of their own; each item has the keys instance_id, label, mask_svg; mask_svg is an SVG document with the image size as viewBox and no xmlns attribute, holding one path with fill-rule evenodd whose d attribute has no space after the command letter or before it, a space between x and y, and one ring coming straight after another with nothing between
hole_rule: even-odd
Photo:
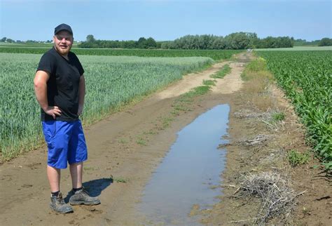
<instances>
[{"instance_id":1,"label":"bare brown soil of track and verge surrounding the puddle","mask_svg":"<svg viewBox=\"0 0 332 226\"><path fill-rule=\"evenodd\" d=\"M221 175L223 196L212 209L197 211L207 225L251 225L259 211L256 199L235 198L242 176L247 173L275 171L291 180L296 192L295 211L289 224L331 225L331 180L318 162L291 168L286 152L304 152L303 127L284 98L282 91L271 88L270 95L286 114L283 124L271 128L261 121L259 112L246 93L246 82L240 74L249 55L241 54L231 62L219 62L204 72L188 74L163 91L154 93L136 105L126 107L107 119L85 127L89 159L84 164L84 185L99 195L99 206L74 206L74 213L59 214L50 210L50 191L46 178L46 147L36 149L0 166L1 225L144 225L136 204L144 185L170 146L177 131L202 112L215 105L230 105L229 139L226 171ZM217 79L216 87L207 95L193 100L190 109L174 116L174 100L191 88L200 86L203 79L230 63L232 72ZM247 113L246 113L247 111ZM248 112L251 112L248 114ZM239 145L257 135L268 136L261 145ZM172 181L171 181L172 182ZM61 191L64 197L71 190L69 170L62 171ZM67 197L68 199L68 197ZM66 200L67 200L66 199ZM278 222L278 219L274 219ZM272 219L273 222L273 219ZM329 224L330 223L330 224Z\"/></svg>"}]
</instances>

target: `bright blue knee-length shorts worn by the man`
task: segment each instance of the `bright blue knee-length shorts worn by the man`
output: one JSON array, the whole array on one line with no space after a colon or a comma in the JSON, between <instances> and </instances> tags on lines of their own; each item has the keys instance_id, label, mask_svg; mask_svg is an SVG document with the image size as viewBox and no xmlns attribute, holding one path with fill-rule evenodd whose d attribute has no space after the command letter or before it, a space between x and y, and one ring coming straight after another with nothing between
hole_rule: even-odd
<instances>
[{"instance_id":1,"label":"bright blue knee-length shorts worn by the man","mask_svg":"<svg viewBox=\"0 0 332 226\"><path fill-rule=\"evenodd\" d=\"M67 168L88 159L81 121L42 121L48 146L48 166Z\"/></svg>"}]
</instances>

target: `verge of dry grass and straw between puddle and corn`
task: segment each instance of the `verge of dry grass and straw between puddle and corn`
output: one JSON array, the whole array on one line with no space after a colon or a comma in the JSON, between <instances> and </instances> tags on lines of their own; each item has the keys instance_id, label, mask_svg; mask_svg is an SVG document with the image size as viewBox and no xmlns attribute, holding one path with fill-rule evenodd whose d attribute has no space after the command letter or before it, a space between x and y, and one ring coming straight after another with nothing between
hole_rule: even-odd
<instances>
[{"instance_id":1,"label":"verge of dry grass and straw between puddle and corn","mask_svg":"<svg viewBox=\"0 0 332 226\"><path fill-rule=\"evenodd\" d=\"M289 178L293 168L286 153L304 145L303 136L298 133L298 121L294 120L291 107L282 98L283 93L275 88L272 74L266 72L263 60L257 59L251 67L246 67L242 78L245 83L241 98L245 103L233 115L237 119L247 119L244 121L247 122L244 129L250 131L247 137L254 137L228 144L242 145L239 149L243 149L235 157L240 159L237 161L240 167L233 166L240 172L229 182L233 185L240 182L240 185L235 193L228 193L228 197L237 198L237 209L232 209L236 215L228 223L293 225L292 213L297 197L304 192L294 191L291 186ZM297 159L293 157L292 160Z\"/></svg>"}]
</instances>

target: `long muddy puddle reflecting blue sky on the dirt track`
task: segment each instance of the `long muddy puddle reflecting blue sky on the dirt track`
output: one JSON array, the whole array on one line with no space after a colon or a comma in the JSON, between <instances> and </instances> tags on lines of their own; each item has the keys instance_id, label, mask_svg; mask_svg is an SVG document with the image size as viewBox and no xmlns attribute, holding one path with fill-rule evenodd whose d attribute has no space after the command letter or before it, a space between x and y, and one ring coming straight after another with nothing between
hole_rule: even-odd
<instances>
[{"instance_id":1,"label":"long muddy puddle reflecting blue sky on the dirt track","mask_svg":"<svg viewBox=\"0 0 332 226\"><path fill-rule=\"evenodd\" d=\"M193 206L211 208L221 195L228 105L217 105L179 131L176 142L144 189L139 212L146 225L200 225Z\"/></svg>"}]
</instances>

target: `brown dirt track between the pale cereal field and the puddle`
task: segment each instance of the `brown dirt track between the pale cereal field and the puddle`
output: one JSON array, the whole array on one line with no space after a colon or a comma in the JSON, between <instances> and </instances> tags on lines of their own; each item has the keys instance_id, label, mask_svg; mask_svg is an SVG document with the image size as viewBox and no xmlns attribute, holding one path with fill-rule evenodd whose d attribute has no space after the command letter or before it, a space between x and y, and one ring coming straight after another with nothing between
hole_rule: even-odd
<instances>
[{"instance_id":1,"label":"brown dirt track between the pale cereal field and the puddle","mask_svg":"<svg viewBox=\"0 0 332 226\"><path fill-rule=\"evenodd\" d=\"M99 206L74 206L74 213L66 215L50 211L46 147L2 164L1 225L136 225L144 221L134 206L151 173L177 138L177 131L210 107L226 102L221 94L241 88L240 74L246 61L242 54L236 61L219 62L203 72L188 74L136 105L85 127L89 159L84 164L83 181L85 187L99 195ZM170 115L175 98L200 86L203 79L209 79L226 63L230 63L231 74L218 79L204 102L195 100L191 112L180 114L166 128L158 128L162 119ZM68 169L62 171L61 182L61 192L66 197L71 190Z\"/></svg>"}]
</instances>

